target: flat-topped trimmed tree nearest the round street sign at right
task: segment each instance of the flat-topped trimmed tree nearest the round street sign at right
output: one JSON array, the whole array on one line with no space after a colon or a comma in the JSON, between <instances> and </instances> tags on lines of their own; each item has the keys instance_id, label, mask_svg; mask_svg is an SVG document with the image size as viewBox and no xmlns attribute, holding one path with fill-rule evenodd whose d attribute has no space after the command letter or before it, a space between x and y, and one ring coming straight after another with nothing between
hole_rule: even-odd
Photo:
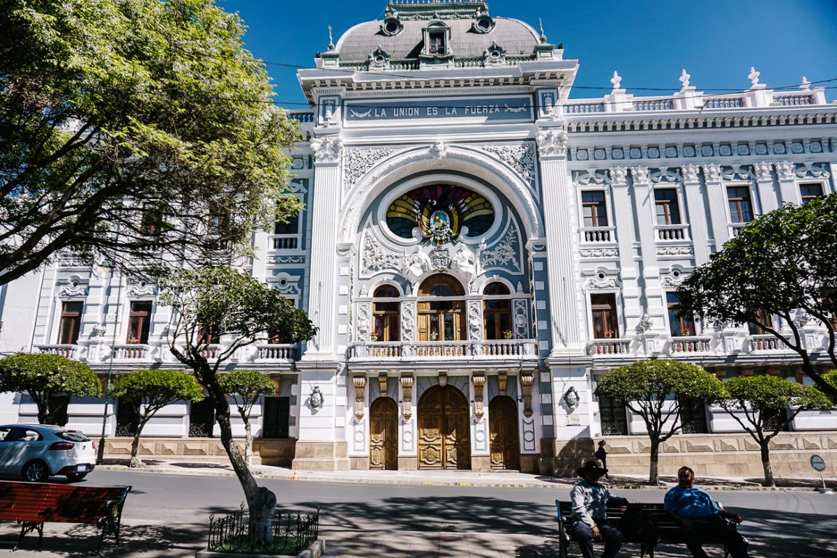
<instances>
[{"instance_id":1,"label":"flat-topped trimmed tree nearest the round street sign at right","mask_svg":"<svg viewBox=\"0 0 837 558\"><path fill-rule=\"evenodd\" d=\"M723 407L756 441L762 453L764 486L775 486L770 441L802 411L828 409L823 392L778 376L737 376L723 382L716 404ZM743 418L742 418L743 415Z\"/></svg>"}]
</instances>

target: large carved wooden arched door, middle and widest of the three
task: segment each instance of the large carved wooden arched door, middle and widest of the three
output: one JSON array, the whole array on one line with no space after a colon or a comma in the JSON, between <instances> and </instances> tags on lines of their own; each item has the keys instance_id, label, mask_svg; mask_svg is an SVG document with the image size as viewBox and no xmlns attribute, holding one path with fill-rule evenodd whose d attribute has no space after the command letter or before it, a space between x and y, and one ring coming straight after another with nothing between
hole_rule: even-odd
<instances>
[{"instance_id":1,"label":"large carved wooden arched door, middle and widest of the three","mask_svg":"<svg viewBox=\"0 0 837 558\"><path fill-rule=\"evenodd\" d=\"M452 386L419 399L419 468L470 469L468 400Z\"/></svg>"}]
</instances>

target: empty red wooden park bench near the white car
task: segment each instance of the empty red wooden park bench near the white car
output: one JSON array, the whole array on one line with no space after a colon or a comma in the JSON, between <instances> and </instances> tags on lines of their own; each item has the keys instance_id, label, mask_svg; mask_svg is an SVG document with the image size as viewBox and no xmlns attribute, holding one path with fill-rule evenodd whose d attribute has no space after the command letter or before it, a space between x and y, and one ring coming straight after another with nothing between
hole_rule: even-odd
<instances>
[{"instance_id":1,"label":"empty red wooden park bench near the white car","mask_svg":"<svg viewBox=\"0 0 837 558\"><path fill-rule=\"evenodd\" d=\"M37 530L38 541L44 538L44 523L84 523L101 530L99 545L108 535L115 535L119 545L122 505L130 486L79 486L76 484L21 483L0 481L0 521L21 524L18 550L23 535Z\"/></svg>"}]
</instances>

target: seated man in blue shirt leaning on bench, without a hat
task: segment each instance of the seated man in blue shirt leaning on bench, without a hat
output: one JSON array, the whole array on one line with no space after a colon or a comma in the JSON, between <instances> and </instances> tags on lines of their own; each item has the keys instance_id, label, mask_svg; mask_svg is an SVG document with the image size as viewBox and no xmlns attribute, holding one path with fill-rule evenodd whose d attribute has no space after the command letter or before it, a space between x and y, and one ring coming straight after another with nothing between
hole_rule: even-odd
<instances>
[{"instance_id":1,"label":"seated man in blue shirt leaning on bench, without a hat","mask_svg":"<svg viewBox=\"0 0 837 558\"><path fill-rule=\"evenodd\" d=\"M663 508L680 524L686 546L695 558L706 558L705 540L722 540L732 558L749 558L747 540L722 518L741 523L741 515L721 508L706 490L695 486L695 472L688 467L677 471L678 485L665 493Z\"/></svg>"}]
</instances>

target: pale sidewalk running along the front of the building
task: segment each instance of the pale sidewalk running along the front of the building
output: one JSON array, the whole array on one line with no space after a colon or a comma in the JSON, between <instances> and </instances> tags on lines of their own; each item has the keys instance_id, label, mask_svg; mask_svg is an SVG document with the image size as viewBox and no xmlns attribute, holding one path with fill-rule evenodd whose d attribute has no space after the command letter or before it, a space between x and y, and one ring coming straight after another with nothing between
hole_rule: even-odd
<instances>
[{"instance_id":1,"label":"pale sidewalk running along the front of the building","mask_svg":"<svg viewBox=\"0 0 837 558\"><path fill-rule=\"evenodd\" d=\"M202 476L234 477L235 473L229 463L193 463L186 461L172 461L162 459L146 459L146 467L131 469L128 459L105 458L105 463L97 468L112 471L141 471L142 473L161 474L189 474ZM537 474L524 474L516 471L305 471L291 468L272 467L269 465L253 465L254 476L261 479L284 479L315 481L326 483L370 483L370 484L401 484L424 486L477 486L498 488L538 488L554 487L556 485L574 484L578 479L561 479L557 477ZM766 488L757 483L757 479L743 478L712 478L698 479L698 483L706 489L716 490L761 490L761 491L802 491L811 492L822 486L819 479L775 479L776 488ZM616 476L602 479L611 489L668 489L677 484L674 477L660 477L660 486L649 486L647 477ZM826 479L830 489L837 489L837 479Z\"/></svg>"}]
</instances>

